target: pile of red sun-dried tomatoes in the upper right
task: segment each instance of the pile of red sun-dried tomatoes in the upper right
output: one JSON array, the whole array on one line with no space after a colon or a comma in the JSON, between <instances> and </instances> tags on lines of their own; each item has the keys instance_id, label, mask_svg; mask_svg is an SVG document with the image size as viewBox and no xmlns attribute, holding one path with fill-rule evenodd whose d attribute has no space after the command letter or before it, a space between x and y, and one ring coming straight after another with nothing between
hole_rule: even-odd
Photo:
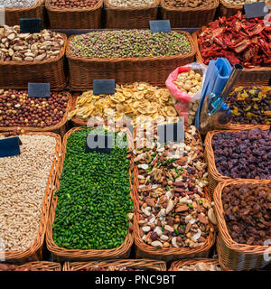
<instances>
[{"instance_id":1,"label":"pile of red sun-dried tomatoes in the upper right","mask_svg":"<svg viewBox=\"0 0 271 289\"><path fill-rule=\"evenodd\" d=\"M264 20L247 19L240 12L229 18L219 20L202 27L198 34L199 49L205 64L218 57L226 57L234 65L245 68L271 66L270 50L271 29Z\"/></svg>"}]
</instances>

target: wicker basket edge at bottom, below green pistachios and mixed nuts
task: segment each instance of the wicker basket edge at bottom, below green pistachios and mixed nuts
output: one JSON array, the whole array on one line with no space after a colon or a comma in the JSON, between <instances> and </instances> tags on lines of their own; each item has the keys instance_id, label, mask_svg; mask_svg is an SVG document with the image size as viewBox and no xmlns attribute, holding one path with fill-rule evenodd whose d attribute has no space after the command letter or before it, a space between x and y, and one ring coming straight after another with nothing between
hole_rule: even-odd
<instances>
[{"instance_id":1,"label":"wicker basket edge at bottom, below green pistachios and mixed nuts","mask_svg":"<svg viewBox=\"0 0 271 289\"><path fill-rule=\"evenodd\" d=\"M65 262L63 266L63 271L80 271L87 268L93 269L95 267L105 267L108 266L124 266L127 268L136 268L144 271L166 271L166 263L163 261L154 261L148 259L134 260L108 260L108 261L95 261L95 262Z\"/></svg>"}]
</instances>

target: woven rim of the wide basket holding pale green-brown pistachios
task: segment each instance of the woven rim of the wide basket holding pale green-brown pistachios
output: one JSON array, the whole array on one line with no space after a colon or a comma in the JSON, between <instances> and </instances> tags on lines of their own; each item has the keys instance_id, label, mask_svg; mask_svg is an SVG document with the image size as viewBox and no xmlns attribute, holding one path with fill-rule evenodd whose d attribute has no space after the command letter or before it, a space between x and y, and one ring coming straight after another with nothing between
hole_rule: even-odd
<instances>
[{"instance_id":1,"label":"woven rim of the wide basket holding pale green-brown pistachios","mask_svg":"<svg viewBox=\"0 0 271 289\"><path fill-rule=\"evenodd\" d=\"M117 30L117 29L114 29ZM121 30L127 30L127 29L121 29ZM129 29L129 30L135 30L135 29ZM140 30L146 30L146 29L140 29ZM107 31L107 29L105 29L104 31ZM68 60L70 61L85 61L85 62L142 62L142 61L160 61L160 60L165 60L165 61L170 61L170 60L174 60L174 59L186 59L188 57L192 57L193 55L195 55L196 53L196 48L194 45L194 42L192 40L192 36L190 33L186 32L186 31L182 31L182 30L175 30L174 32L177 33L182 33L187 37L188 42L191 45L191 51L187 52L185 54L182 55L171 55L171 56L155 56L155 57L127 57L127 58L94 58L94 57L86 57L86 56L71 56L71 51L70 51L70 42L72 41L72 39L76 36L80 36L80 35L85 35L86 33L83 34L79 34L79 35L72 35L70 36L70 38L68 39L67 42L67 49L66 49L66 57L68 58ZM88 33L87 33L88 34Z\"/></svg>"}]
</instances>

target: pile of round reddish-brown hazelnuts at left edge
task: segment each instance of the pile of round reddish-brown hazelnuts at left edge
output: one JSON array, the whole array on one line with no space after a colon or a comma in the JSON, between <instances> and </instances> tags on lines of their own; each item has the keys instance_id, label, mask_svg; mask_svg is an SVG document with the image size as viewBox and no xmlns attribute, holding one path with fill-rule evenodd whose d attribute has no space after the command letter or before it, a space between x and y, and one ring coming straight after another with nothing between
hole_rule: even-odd
<instances>
[{"instance_id":1,"label":"pile of round reddish-brown hazelnuts at left edge","mask_svg":"<svg viewBox=\"0 0 271 289\"><path fill-rule=\"evenodd\" d=\"M68 97L51 92L51 98L28 98L26 90L0 89L0 127L55 126L63 118Z\"/></svg>"}]
</instances>

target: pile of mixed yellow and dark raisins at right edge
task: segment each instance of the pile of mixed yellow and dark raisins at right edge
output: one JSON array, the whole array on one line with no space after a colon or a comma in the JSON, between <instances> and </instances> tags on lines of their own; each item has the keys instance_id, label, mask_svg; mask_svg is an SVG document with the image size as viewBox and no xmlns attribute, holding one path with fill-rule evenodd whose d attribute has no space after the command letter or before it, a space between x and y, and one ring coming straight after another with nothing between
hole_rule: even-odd
<instances>
[{"instance_id":1,"label":"pile of mixed yellow and dark raisins at right edge","mask_svg":"<svg viewBox=\"0 0 271 289\"><path fill-rule=\"evenodd\" d=\"M238 87L227 98L233 123L271 125L271 87Z\"/></svg>"}]
</instances>

